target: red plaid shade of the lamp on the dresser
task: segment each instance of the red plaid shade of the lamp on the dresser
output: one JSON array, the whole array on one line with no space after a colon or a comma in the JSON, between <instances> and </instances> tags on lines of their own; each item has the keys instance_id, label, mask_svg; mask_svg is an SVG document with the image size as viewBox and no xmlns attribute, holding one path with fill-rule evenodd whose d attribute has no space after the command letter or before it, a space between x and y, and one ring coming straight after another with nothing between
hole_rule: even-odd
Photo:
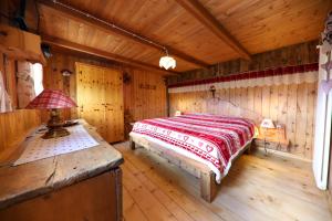
<instances>
[{"instance_id":1,"label":"red plaid shade of the lamp on the dresser","mask_svg":"<svg viewBox=\"0 0 332 221\"><path fill-rule=\"evenodd\" d=\"M44 90L25 107L28 109L58 109L71 108L77 105L63 92L58 90Z\"/></svg>"}]
</instances>

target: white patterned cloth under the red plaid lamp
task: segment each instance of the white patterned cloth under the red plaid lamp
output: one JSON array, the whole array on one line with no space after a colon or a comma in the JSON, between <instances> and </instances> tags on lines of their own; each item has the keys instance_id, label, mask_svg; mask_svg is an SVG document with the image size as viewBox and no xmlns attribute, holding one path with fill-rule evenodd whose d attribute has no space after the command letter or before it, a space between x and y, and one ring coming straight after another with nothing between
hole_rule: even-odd
<instances>
[{"instance_id":1,"label":"white patterned cloth under the red plaid lamp","mask_svg":"<svg viewBox=\"0 0 332 221\"><path fill-rule=\"evenodd\" d=\"M66 129L71 134L65 137L43 139L41 138L42 134L34 135L29 140L23 154L13 165L18 166L98 145L82 125L68 127Z\"/></svg>"}]
</instances>

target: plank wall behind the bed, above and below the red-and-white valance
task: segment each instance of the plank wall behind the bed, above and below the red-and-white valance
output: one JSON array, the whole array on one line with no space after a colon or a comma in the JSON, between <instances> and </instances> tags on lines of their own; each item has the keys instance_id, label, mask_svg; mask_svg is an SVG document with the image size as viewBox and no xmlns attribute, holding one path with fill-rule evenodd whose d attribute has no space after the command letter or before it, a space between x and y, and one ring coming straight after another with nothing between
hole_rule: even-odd
<instances>
[{"instance_id":1,"label":"plank wall behind the bed, above and below the red-and-white valance","mask_svg":"<svg viewBox=\"0 0 332 221\"><path fill-rule=\"evenodd\" d=\"M197 70L178 77L169 77L168 84L245 71L314 63L318 62L315 44L317 41L307 42L257 54L253 55L251 62L236 60L216 64L209 70ZM209 92L169 94L169 113L173 115L176 109L209 112L205 109L205 99L210 96ZM274 123L283 124L290 139L290 148L288 150L283 149L283 151L312 159L315 83L220 90L216 92L216 96L232 102L240 107L255 110L263 117L272 118Z\"/></svg>"}]
</instances>

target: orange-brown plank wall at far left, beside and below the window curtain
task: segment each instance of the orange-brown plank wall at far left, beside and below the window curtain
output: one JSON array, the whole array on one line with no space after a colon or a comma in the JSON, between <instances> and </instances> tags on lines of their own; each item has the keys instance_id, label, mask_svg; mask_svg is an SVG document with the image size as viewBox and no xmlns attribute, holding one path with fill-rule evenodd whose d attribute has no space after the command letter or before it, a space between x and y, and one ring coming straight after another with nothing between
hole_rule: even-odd
<instances>
[{"instance_id":1,"label":"orange-brown plank wall at far left, beside and below the window curtain","mask_svg":"<svg viewBox=\"0 0 332 221\"><path fill-rule=\"evenodd\" d=\"M15 61L7 60L0 53L0 71L4 76L8 93L17 107ZM15 109L0 114L0 161L10 157L15 147L41 123L40 112L34 109Z\"/></svg>"}]
</instances>

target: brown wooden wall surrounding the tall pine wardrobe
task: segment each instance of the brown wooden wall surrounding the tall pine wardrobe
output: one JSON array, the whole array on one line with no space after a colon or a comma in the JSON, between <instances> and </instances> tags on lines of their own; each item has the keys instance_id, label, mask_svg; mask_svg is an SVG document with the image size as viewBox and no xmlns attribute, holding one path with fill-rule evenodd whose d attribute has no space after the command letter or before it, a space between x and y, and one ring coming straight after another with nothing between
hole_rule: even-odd
<instances>
[{"instance_id":1,"label":"brown wooden wall surrounding the tall pine wardrobe","mask_svg":"<svg viewBox=\"0 0 332 221\"><path fill-rule=\"evenodd\" d=\"M124 83L124 113L127 133L131 122L166 116L166 85L160 74L123 66L81 53L55 51L44 69L44 87L62 90L73 101L76 101L75 62L121 70L129 76L129 82ZM63 69L72 71L72 76L63 77L61 74ZM76 108L62 110L62 116L64 119L76 118ZM48 113L43 113L43 122L48 118Z\"/></svg>"}]
</instances>

